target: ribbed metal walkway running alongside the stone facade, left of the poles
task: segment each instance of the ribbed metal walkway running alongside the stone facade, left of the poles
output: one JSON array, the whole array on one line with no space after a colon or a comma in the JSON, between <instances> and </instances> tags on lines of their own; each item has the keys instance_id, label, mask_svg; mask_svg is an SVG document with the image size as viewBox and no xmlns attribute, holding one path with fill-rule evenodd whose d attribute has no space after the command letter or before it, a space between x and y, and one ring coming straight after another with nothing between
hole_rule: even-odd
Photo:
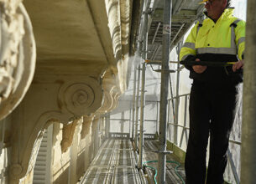
<instances>
[{"instance_id":1,"label":"ribbed metal walkway running alongside the stone facade, left of the poles","mask_svg":"<svg viewBox=\"0 0 256 184\"><path fill-rule=\"evenodd\" d=\"M105 141L80 183L140 184L131 141L115 139Z\"/></svg>"}]
</instances>

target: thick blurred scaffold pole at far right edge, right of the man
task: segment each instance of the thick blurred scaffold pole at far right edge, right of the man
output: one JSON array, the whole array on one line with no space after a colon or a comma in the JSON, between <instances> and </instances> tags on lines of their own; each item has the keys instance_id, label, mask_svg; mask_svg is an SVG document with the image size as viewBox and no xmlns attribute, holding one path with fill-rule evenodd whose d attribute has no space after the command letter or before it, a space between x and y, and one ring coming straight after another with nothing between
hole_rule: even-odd
<instances>
[{"instance_id":1,"label":"thick blurred scaffold pole at far right edge, right of the man","mask_svg":"<svg viewBox=\"0 0 256 184\"><path fill-rule=\"evenodd\" d=\"M255 183L256 171L256 2L248 0L243 82L241 183Z\"/></svg>"}]
</instances>

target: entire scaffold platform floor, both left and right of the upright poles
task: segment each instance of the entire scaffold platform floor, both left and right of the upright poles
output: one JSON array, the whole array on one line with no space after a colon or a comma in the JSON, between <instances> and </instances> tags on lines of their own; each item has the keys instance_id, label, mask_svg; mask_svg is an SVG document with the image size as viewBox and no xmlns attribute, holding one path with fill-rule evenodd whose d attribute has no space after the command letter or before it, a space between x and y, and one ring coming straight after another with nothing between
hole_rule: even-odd
<instances>
[{"instance_id":1,"label":"entire scaffold platform floor, both left and right of the upright poles","mask_svg":"<svg viewBox=\"0 0 256 184\"><path fill-rule=\"evenodd\" d=\"M154 152L157 150L157 145L158 141L144 141L144 162L157 160L158 155ZM177 161L177 158L170 154L166 160ZM147 163L147 165L157 169L157 162ZM154 170L147 169L147 171L149 180L145 180L145 177L138 172L133 145L130 140L108 139L103 143L80 183L154 183ZM166 183L183 183L177 173L185 181L183 164L177 168L175 163L166 163Z\"/></svg>"}]
</instances>

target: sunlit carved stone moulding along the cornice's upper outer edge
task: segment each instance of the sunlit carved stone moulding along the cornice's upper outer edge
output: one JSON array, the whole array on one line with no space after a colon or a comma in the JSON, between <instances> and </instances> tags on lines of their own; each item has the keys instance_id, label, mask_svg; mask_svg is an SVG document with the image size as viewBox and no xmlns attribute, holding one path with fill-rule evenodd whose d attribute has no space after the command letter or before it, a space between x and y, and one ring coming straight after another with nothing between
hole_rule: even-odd
<instances>
[{"instance_id":1,"label":"sunlit carved stone moulding along the cornice's upper outer edge","mask_svg":"<svg viewBox=\"0 0 256 184\"><path fill-rule=\"evenodd\" d=\"M113 73L118 78L119 88L123 93L127 89L129 35L131 27L131 0L105 0L108 28L112 38L112 49L117 61Z\"/></svg>"}]
</instances>

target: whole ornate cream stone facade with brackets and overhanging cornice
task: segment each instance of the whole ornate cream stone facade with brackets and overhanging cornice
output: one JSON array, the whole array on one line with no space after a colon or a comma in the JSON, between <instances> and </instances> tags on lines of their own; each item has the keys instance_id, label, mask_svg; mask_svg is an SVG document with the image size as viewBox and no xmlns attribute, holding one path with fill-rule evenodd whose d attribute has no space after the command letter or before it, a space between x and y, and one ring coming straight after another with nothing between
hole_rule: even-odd
<instances>
[{"instance_id":1,"label":"whole ornate cream stone facade with brackets and overhanging cornice","mask_svg":"<svg viewBox=\"0 0 256 184\"><path fill-rule=\"evenodd\" d=\"M132 4L0 2L1 183L38 180L45 144L47 182L84 174L100 145L101 116L127 89Z\"/></svg>"}]
</instances>

